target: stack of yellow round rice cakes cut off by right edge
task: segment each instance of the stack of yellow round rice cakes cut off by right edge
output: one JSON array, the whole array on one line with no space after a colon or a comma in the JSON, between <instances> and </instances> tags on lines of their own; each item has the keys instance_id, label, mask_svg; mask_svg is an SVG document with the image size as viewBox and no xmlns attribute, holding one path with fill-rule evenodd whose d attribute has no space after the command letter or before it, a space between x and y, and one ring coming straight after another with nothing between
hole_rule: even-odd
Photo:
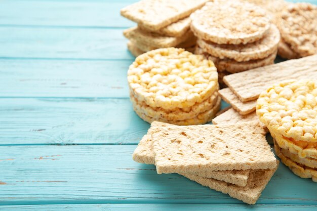
<instances>
[{"instance_id":1,"label":"stack of yellow round rice cakes cut off by right edge","mask_svg":"<svg viewBox=\"0 0 317 211\"><path fill-rule=\"evenodd\" d=\"M317 81L288 80L262 92L257 116L294 174L317 182Z\"/></svg>"}]
</instances>

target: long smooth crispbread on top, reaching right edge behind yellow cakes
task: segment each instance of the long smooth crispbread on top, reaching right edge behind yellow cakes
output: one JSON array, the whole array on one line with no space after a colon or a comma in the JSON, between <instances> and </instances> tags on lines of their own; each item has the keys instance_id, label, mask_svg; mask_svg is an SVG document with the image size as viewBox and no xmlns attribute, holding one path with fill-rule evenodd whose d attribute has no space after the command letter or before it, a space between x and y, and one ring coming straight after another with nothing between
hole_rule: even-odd
<instances>
[{"instance_id":1,"label":"long smooth crispbread on top, reaching right edge behind yellow cakes","mask_svg":"<svg viewBox=\"0 0 317 211\"><path fill-rule=\"evenodd\" d=\"M247 102L257 99L274 83L304 78L317 78L317 55L227 75L223 81L242 102Z\"/></svg>"}]
</instances>

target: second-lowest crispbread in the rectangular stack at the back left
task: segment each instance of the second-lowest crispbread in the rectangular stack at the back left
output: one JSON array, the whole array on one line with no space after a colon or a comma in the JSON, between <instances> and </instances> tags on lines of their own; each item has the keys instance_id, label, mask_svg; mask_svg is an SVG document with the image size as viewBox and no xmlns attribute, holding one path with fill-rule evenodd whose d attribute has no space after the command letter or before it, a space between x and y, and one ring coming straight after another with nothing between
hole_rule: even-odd
<instances>
[{"instance_id":1,"label":"second-lowest crispbread in the rectangular stack at the back left","mask_svg":"<svg viewBox=\"0 0 317 211\"><path fill-rule=\"evenodd\" d=\"M183 41L194 38L191 31L186 32L181 37L163 36L154 32L143 31L138 27L132 27L124 30L124 36L128 39L134 39L139 43L146 44L155 48L175 47Z\"/></svg>"}]
</instances>

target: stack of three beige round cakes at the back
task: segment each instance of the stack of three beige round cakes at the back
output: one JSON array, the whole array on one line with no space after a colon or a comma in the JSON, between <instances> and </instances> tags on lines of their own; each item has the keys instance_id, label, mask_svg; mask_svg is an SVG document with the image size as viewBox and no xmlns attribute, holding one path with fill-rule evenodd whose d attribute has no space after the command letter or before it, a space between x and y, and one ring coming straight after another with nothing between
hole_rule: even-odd
<instances>
[{"instance_id":1,"label":"stack of three beige round cakes at the back","mask_svg":"<svg viewBox=\"0 0 317 211\"><path fill-rule=\"evenodd\" d=\"M247 2L215 0L190 15L195 54L212 60L219 82L231 73L274 63L280 32L264 9Z\"/></svg>"}]
</instances>

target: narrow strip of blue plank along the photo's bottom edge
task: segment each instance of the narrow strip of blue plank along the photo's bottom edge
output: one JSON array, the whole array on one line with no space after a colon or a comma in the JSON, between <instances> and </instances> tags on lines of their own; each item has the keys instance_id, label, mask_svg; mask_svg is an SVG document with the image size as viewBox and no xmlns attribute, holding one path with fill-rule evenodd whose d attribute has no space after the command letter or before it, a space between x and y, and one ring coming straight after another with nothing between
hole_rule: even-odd
<instances>
[{"instance_id":1,"label":"narrow strip of blue plank along the photo's bottom edge","mask_svg":"<svg viewBox=\"0 0 317 211\"><path fill-rule=\"evenodd\" d=\"M16 211L57 211L57 210L147 210L147 211L192 211L192 210L254 210L254 211L313 211L317 205L297 205L297 204L258 204L258 205L241 205L241 204L48 204L48 205L13 205L2 206L4 210Z\"/></svg>"}]
</instances>

